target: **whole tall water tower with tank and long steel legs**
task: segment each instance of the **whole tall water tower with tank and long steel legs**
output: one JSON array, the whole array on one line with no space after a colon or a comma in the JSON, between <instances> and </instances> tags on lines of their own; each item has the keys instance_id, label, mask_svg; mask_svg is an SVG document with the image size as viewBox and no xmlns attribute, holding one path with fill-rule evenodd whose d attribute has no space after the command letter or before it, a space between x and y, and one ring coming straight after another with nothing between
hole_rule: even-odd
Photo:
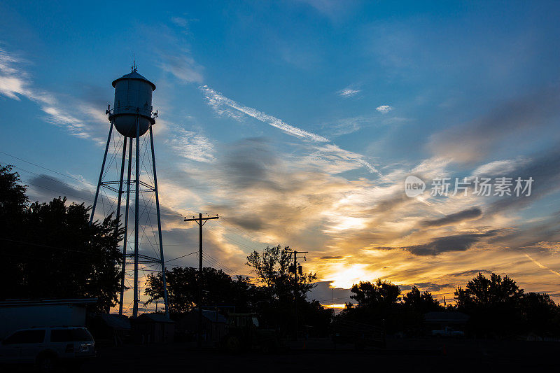
<instances>
[{"instance_id":1,"label":"whole tall water tower with tank and long steel legs","mask_svg":"<svg viewBox=\"0 0 560 373\"><path fill-rule=\"evenodd\" d=\"M123 274L120 283L120 300L119 300L119 314L123 314L123 302L125 294L125 273L127 258L134 258L134 299L132 307L132 316L138 316L139 304L139 263L153 263L153 265L161 265L162 280L164 284L164 302L165 314L169 317L169 308L167 306L167 285L165 281L165 260L163 256L163 243L162 243L162 225L160 216L160 199L158 196L158 178L155 172L155 153L153 148L153 131L152 126L155 125L155 118L158 117L158 112L153 111L152 107L152 93L155 90L155 85L148 79L144 78L137 72L137 66L132 65L132 72L128 73L113 81L115 87L115 102L113 108L109 105L106 114L109 115L109 137L105 146L105 154L99 173L99 181L97 182L97 190L92 206L90 224L94 219L95 209L97 207L99 197L102 198L104 213L115 213L116 218L119 220L121 216L121 202L123 196L125 197L125 213L124 229L125 237L123 239ZM113 133L113 128L117 130L118 134ZM146 139L146 132L149 135ZM127 148L127 142L128 148ZM113 146L111 146L111 144ZM144 146L144 148L143 148ZM120 150L122 148L122 153ZM132 148L135 150L135 155L132 155ZM148 149L149 148L149 149ZM148 150L151 157L148 155ZM118 167L118 157L120 155L120 167ZM127 154L128 153L128 154ZM142 153L142 157L141 157ZM109 164L107 164L107 155L109 154ZM148 160L146 160L148 157ZM118 174L118 180L107 179L109 169L114 162ZM125 176L125 164L127 164L127 176ZM148 164L148 167L146 167ZM132 178L132 169L134 169L134 177ZM144 178L144 180L141 180ZM134 188L133 188L134 186ZM124 188L123 188L124 187ZM110 206L109 211L106 211L103 197L106 201L114 201L108 195L103 195L104 190L117 193L116 206ZM102 194L100 195L100 192ZM106 192L105 192L106 193ZM130 194L134 194L134 206L130 204ZM154 235L154 242L152 243L149 238L144 239L146 235L145 223L139 220L141 216L147 216L146 222L150 221L150 212L146 215L146 206L144 210L140 204L140 199L144 201L144 194L153 193L150 201L153 201L155 195L155 215L158 220L157 238ZM111 202L112 203L112 202ZM112 209L114 207L114 209ZM134 252L127 254L127 245L129 239L129 232L132 230L129 223L129 215L132 215L131 209L134 209ZM151 242L152 246L159 246L159 250L154 250L153 256L144 255L141 253L139 237L142 230L144 241ZM154 228L155 232L155 228Z\"/></svg>"}]
</instances>

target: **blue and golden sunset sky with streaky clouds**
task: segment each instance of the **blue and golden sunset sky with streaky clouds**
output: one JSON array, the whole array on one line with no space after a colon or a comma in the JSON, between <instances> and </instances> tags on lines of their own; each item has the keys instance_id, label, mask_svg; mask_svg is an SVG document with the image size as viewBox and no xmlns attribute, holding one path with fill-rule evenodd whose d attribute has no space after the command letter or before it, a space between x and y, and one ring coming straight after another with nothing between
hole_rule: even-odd
<instances>
[{"instance_id":1,"label":"blue and golden sunset sky with streaky clouds","mask_svg":"<svg viewBox=\"0 0 560 373\"><path fill-rule=\"evenodd\" d=\"M387 279L452 302L477 272L560 301L557 2L0 3L0 163L33 200L91 204L111 82L153 106L165 256L251 275L309 251L323 303ZM426 182L407 197L405 178ZM533 178L531 195L433 196L433 178ZM493 194L493 193L492 193ZM98 211L102 213L102 211ZM144 248L147 253L151 249ZM206 258L205 258L206 260ZM212 261L214 260L214 262ZM195 265L195 255L169 265Z\"/></svg>"}]
</instances>

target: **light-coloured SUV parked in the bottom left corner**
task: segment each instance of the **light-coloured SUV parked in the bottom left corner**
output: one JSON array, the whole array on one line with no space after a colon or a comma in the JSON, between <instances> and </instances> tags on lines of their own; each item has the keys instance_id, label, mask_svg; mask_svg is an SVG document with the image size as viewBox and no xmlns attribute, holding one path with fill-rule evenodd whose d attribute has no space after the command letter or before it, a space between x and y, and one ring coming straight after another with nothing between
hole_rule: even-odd
<instances>
[{"instance_id":1,"label":"light-coloured SUV parked in the bottom left corner","mask_svg":"<svg viewBox=\"0 0 560 373\"><path fill-rule=\"evenodd\" d=\"M86 328L20 329L0 343L0 363L36 364L50 372L59 363L79 365L95 356L95 342Z\"/></svg>"}]
</instances>

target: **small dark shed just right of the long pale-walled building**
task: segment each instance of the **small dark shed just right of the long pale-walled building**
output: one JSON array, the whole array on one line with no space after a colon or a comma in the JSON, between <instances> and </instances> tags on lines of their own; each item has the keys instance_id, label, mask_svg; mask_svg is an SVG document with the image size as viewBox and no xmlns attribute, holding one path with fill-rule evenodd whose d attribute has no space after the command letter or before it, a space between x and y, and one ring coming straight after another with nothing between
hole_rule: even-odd
<instances>
[{"instance_id":1,"label":"small dark shed just right of the long pale-walled building","mask_svg":"<svg viewBox=\"0 0 560 373\"><path fill-rule=\"evenodd\" d=\"M95 341L109 342L120 346L130 337L132 326L125 315L93 314L88 316L87 328L92 332Z\"/></svg>"}]
</instances>

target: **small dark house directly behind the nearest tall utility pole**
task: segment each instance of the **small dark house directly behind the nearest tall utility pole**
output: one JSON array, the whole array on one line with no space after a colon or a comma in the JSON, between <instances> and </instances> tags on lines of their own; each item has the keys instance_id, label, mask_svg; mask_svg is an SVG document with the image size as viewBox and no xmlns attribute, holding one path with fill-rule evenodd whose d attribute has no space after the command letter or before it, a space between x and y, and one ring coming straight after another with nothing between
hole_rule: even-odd
<instances>
[{"instance_id":1,"label":"small dark house directly behind the nearest tall utility pole","mask_svg":"<svg viewBox=\"0 0 560 373\"><path fill-rule=\"evenodd\" d=\"M202 310L202 340L205 342L220 342L226 333L228 320L218 311ZM191 339L198 334L198 310L193 309L183 316L178 323L178 329Z\"/></svg>"}]
</instances>

